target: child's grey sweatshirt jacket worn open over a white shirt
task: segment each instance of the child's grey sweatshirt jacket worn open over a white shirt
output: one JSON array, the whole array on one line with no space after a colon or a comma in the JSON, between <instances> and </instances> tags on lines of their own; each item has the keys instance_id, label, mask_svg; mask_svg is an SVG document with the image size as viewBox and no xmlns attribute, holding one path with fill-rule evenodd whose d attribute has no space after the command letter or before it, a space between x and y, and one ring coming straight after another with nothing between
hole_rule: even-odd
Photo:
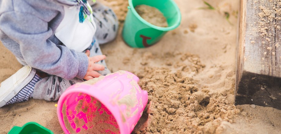
<instances>
[{"instance_id":1,"label":"child's grey sweatshirt jacket worn open over a white shirt","mask_svg":"<svg viewBox=\"0 0 281 134\"><path fill-rule=\"evenodd\" d=\"M0 0L0 40L33 68L65 79L82 79L88 58L65 47L54 35L69 0Z\"/></svg>"}]
</instances>

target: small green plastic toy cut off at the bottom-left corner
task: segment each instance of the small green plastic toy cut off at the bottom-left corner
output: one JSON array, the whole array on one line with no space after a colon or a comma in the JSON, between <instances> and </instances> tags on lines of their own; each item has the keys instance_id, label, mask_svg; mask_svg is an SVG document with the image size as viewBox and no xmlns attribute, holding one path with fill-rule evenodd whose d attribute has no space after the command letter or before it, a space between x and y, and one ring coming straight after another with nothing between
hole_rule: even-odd
<instances>
[{"instance_id":1,"label":"small green plastic toy cut off at the bottom-left corner","mask_svg":"<svg viewBox=\"0 0 281 134\"><path fill-rule=\"evenodd\" d=\"M22 127L14 126L8 134L54 134L36 122L28 122Z\"/></svg>"}]
</instances>

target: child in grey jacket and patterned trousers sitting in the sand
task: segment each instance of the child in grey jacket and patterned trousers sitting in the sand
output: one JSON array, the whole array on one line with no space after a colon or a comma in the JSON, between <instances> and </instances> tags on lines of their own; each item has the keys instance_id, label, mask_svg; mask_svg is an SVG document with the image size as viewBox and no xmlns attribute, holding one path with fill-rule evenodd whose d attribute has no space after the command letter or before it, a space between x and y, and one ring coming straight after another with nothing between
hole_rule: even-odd
<instances>
[{"instance_id":1,"label":"child in grey jacket and patterned trousers sitting in the sand","mask_svg":"<svg viewBox=\"0 0 281 134\"><path fill-rule=\"evenodd\" d=\"M87 0L0 0L0 40L25 65L0 86L0 107L58 100L71 85L111 73L99 43L115 39L113 11Z\"/></svg>"}]
</instances>

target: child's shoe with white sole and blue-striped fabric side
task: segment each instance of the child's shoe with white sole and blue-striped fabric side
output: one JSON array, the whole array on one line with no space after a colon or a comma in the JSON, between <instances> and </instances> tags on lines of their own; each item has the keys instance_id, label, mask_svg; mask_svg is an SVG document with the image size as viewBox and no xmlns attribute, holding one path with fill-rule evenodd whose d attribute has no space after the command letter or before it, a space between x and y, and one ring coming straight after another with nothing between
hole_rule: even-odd
<instances>
[{"instance_id":1,"label":"child's shoe with white sole and blue-striped fabric side","mask_svg":"<svg viewBox=\"0 0 281 134\"><path fill-rule=\"evenodd\" d=\"M15 74L0 84L0 107L27 101L34 91L34 85L41 78L36 75L36 69L24 66Z\"/></svg>"}]
</instances>

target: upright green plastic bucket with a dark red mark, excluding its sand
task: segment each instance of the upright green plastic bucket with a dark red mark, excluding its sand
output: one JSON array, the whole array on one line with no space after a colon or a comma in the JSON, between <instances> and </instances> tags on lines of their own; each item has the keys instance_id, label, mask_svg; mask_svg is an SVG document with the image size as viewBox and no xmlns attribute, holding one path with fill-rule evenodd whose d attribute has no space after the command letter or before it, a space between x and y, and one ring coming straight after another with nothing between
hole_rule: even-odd
<instances>
[{"instance_id":1,"label":"upright green plastic bucket with a dark red mark, excluding its sand","mask_svg":"<svg viewBox=\"0 0 281 134\"><path fill-rule=\"evenodd\" d=\"M143 4L159 9L166 17L168 27L158 27L141 18L134 7ZM131 47L149 47L180 23L181 12L173 0L129 0L122 36Z\"/></svg>"}]
</instances>

